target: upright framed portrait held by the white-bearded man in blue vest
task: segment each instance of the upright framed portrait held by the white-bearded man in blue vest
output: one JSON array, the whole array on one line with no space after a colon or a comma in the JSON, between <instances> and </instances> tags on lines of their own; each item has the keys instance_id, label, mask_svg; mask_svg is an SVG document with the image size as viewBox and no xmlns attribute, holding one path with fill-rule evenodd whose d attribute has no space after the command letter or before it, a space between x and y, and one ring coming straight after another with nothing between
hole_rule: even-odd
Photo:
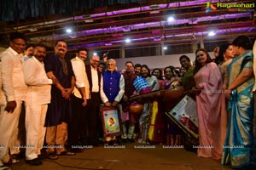
<instances>
[{"instance_id":1,"label":"upright framed portrait held by the white-bearded man in blue vest","mask_svg":"<svg viewBox=\"0 0 256 170\"><path fill-rule=\"evenodd\" d=\"M106 136L118 136L122 134L119 107L101 107L103 132Z\"/></svg>"}]
</instances>

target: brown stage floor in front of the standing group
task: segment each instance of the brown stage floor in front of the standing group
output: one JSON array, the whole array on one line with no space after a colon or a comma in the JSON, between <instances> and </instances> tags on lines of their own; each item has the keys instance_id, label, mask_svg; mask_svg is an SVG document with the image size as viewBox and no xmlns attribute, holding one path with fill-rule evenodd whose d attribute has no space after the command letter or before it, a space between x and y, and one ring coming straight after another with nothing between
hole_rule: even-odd
<instances>
[{"instance_id":1,"label":"brown stage floor in front of the standing group","mask_svg":"<svg viewBox=\"0 0 256 170\"><path fill-rule=\"evenodd\" d=\"M194 152L179 148L164 148L163 145L149 145L153 148L138 148L137 144L121 145L125 148L98 146L84 149L76 156L59 156L58 160L45 159L41 166L31 166L24 160L13 164L13 170L230 170L218 161L199 158ZM155 146L155 148L154 148ZM143 145L143 147L148 147Z\"/></svg>"}]
</instances>

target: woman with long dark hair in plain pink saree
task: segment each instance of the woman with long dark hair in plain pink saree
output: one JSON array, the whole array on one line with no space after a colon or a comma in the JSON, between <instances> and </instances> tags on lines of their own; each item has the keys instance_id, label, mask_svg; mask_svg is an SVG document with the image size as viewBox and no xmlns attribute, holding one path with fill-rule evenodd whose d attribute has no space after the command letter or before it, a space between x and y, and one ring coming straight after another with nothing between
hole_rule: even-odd
<instances>
[{"instance_id":1,"label":"woman with long dark hair in plain pink saree","mask_svg":"<svg viewBox=\"0 0 256 170\"><path fill-rule=\"evenodd\" d=\"M212 62L206 49L195 52L196 109L198 115L199 143L197 155L219 160L222 156L226 134L226 116L222 110L222 77L218 65Z\"/></svg>"}]
</instances>

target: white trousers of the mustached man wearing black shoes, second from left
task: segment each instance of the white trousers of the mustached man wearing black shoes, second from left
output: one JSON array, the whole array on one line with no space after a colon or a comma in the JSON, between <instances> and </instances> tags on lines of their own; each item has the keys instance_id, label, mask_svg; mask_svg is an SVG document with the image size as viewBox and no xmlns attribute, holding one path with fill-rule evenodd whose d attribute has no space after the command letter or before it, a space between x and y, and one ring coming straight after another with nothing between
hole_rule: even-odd
<instances>
[{"instance_id":1,"label":"white trousers of the mustached man wearing black shoes, second from left","mask_svg":"<svg viewBox=\"0 0 256 170\"><path fill-rule=\"evenodd\" d=\"M43 148L45 116L48 105L26 105L26 160L32 160L41 154Z\"/></svg>"}]
</instances>

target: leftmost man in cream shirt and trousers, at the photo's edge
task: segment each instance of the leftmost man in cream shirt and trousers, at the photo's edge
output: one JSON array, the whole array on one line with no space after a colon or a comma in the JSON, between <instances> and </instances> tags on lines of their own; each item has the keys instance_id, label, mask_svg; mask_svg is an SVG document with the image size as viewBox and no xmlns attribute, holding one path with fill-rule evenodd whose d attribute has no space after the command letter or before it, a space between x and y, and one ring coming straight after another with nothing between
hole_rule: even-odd
<instances>
[{"instance_id":1,"label":"leftmost man in cream shirt and trousers, at the photo's edge","mask_svg":"<svg viewBox=\"0 0 256 170\"><path fill-rule=\"evenodd\" d=\"M18 137L18 122L21 103L26 99L27 86L22 69L22 52L26 47L26 37L19 32L10 36L9 48L0 54L3 92L5 105L0 112L0 160L4 163L15 163L17 160L9 156L9 148L15 146Z\"/></svg>"}]
</instances>

